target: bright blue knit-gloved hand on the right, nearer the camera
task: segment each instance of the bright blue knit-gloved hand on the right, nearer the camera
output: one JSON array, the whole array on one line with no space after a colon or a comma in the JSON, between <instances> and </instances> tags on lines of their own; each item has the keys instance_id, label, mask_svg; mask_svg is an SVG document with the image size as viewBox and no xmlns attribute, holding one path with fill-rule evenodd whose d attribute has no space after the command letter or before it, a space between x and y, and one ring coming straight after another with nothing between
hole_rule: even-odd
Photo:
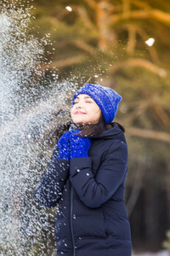
<instances>
[{"instance_id":1,"label":"bright blue knit-gloved hand on the right, nearer the camera","mask_svg":"<svg viewBox=\"0 0 170 256\"><path fill-rule=\"evenodd\" d=\"M88 137L78 137L80 130L71 131L71 154L70 158L88 157L88 150L91 146L91 140Z\"/></svg>"}]
</instances>

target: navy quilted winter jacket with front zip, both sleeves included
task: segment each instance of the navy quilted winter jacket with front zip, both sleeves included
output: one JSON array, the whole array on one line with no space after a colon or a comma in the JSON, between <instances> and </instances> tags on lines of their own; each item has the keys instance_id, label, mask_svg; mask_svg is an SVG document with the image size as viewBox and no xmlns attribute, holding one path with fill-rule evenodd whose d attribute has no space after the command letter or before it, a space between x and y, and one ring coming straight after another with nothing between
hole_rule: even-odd
<instances>
[{"instance_id":1,"label":"navy quilted winter jacket with front zip, both sleeves included","mask_svg":"<svg viewBox=\"0 0 170 256\"><path fill-rule=\"evenodd\" d=\"M91 137L88 157L57 159L37 185L45 207L59 204L57 256L131 256L130 226L124 206L127 143L115 125Z\"/></svg>"}]
</instances>

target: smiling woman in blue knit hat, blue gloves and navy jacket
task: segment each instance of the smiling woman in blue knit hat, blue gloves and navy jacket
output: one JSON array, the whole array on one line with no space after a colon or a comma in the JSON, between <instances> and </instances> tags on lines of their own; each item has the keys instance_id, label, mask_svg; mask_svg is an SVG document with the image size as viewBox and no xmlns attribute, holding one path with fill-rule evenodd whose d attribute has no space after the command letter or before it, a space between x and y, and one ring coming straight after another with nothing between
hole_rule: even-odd
<instances>
[{"instance_id":1,"label":"smiling woman in blue knit hat, blue gloves and navy jacket","mask_svg":"<svg viewBox=\"0 0 170 256\"><path fill-rule=\"evenodd\" d=\"M115 90L96 84L73 96L73 124L59 138L35 191L43 206L59 204L57 256L131 256L124 205L127 143L122 125L112 122L121 100Z\"/></svg>"}]
</instances>

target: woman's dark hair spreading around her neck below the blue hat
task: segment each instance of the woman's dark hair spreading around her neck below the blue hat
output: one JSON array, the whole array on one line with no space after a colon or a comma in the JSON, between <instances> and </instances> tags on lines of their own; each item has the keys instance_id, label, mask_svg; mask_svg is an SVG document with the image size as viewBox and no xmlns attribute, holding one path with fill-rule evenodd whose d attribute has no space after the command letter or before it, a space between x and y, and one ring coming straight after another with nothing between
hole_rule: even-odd
<instances>
[{"instance_id":1,"label":"woman's dark hair spreading around her neck below the blue hat","mask_svg":"<svg viewBox=\"0 0 170 256\"><path fill-rule=\"evenodd\" d=\"M70 120L69 122L66 122L63 125L59 125L57 127L57 129L54 131L54 135L56 137L56 142L58 142L59 137L61 137L66 131L69 131L71 125L75 125L77 127L77 130L80 129L82 131L81 134L77 133L77 135L79 135L81 137L93 136L93 135L99 134L101 131L110 130L111 128L113 128L115 126L115 124L117 124L119 126L119 128L123 132L125 132L125 128L120 123L112 122L110 124L106 124L104 115L103 115L103 113L101 113L98 124L75 125L73 123L73 121Z\"/></svg>"}]
</instances>

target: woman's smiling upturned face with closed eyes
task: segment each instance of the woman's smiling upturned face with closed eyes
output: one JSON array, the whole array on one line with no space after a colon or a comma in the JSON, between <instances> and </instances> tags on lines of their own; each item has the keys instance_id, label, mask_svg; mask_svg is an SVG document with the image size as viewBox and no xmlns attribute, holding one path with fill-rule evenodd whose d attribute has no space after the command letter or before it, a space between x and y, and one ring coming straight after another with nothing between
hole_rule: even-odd
<instances>
[{"instance_id":1,"label":"woman's smiling upturned face with closed eyes","mask_svg":"<svg viewBox=\"0 0 170 256\"><path fill-rule=\"evenodd\" d=\"M71 108L71 119L76 125L97 124L100 116L101 110L90 96L86 94L77 96Z\"/></svg>"}]
</instances>

